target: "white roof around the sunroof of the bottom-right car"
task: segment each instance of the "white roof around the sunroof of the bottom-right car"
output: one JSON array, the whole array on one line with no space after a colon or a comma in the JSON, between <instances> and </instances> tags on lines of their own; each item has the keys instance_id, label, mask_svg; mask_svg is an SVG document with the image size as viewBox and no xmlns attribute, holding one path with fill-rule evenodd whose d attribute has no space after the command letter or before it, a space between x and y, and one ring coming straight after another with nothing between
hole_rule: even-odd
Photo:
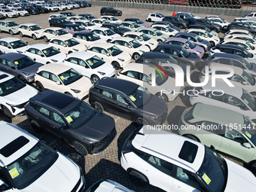
<instances>
[{"instance_id":1,"label":"white roof around the sunroof of the bottom-right car","mask_svg":"<svg viewBox=\"0 0 256 192\"><path fill-rule=\"evenodd\" d=\"M147 126L143 126L139 134L133 139L132 144L135 148L152 154L155 157L160 157L190 172L197 172L200 169L205 156L205 146L203 144L166 130L148 130L148 128ZM184 142L189 142L198 147L193 163L189 163L179 157Z\"/></svg>"}]
</instances>

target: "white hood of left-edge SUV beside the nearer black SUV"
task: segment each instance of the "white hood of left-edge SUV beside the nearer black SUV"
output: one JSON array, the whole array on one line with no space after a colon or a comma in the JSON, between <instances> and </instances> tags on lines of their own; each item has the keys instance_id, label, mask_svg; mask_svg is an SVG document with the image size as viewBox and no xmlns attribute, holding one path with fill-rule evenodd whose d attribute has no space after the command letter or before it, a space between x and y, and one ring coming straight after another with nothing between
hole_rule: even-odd
<instances>
[{"instance_id":1,"label":"white hood of left-edge SUV beside the nearer black SUV","mask_svg":"<svg viewBox=\"0 0 256 192\"><path fill-rule=\"evenodd\" d=\"M14 93L9 94L8 96L2 96L2 99L5 100L8 104L11 105L20 105L25 102L28 102L32 96L35 96L38 93L34 87L26 85L20 90L15 91Z\"/></svg>"}]
</instances>

